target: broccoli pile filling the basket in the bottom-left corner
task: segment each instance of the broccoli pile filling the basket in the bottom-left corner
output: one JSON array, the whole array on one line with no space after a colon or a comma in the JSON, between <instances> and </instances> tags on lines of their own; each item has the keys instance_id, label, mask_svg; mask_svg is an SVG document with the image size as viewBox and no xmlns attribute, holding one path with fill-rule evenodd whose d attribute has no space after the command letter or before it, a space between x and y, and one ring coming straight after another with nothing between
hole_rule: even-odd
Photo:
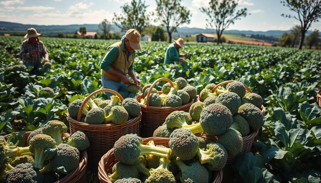
<instances>
[{"instance_id":1,"label":"broccoli pile filling the basket in the bottom-left corner","mask_svg":"<svg viewBox=\"0 0 321 183\"><path fill-rule=\"evenodd\" d=\"M55 182L72 172L79 165L80 151L90 143L82 132L62 138L67 126L61 121L48 121L43 127L30 133L27 147L16 139L24 139L18 133L5 140L0 136L0 179L4 182ZM13 144L14 141L14 144Z\"/></svg>"}]
</instances>

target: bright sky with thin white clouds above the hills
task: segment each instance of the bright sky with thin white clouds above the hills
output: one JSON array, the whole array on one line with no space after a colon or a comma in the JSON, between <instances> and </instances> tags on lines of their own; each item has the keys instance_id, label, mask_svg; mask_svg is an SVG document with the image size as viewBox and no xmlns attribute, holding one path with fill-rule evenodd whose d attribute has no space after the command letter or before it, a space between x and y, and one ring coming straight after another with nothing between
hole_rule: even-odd
<instances>
[{"instance_id":1,"label":"bright sky with thin white clouds above the hills","mask_svg":"<svg viewBox=\"0 0 321 183\"><path fill-rule=\"evenodd\" d=\"M114 13L121 13L121 6L131 0L0 0L0 21L37 25L98 24L101 20L112 20ZM192 13L186 27L206 27L206 14L199 8L207 7L209 0L182 0ZM145 0L147 11L156 8L155 0ZM235 21L227 30L289 30L300 22L284 18L282 13L292 14L279 0L239 0L237 8L247 8L250 15ZM151 24L158 25L152 21ZM321 30L321 22L314 22L310 30Z\"/></svg>"}]
</instances>

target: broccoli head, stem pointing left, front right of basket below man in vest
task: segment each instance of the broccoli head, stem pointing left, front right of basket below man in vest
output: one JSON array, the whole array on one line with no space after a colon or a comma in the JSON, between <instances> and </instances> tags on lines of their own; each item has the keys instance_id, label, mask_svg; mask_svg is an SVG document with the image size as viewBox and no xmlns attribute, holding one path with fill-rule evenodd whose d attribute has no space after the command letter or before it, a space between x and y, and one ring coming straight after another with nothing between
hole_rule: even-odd
<instances>
[{"instance_id":1,"label":"broccoli head, stem pointing left, front right of basket below man in vest","mask_svg":"<svg viewBox=\"0 0 321 183\"><path fill-rule=\"evenodd\" d=\"M105 123L112 121L116 124L123 124L126 123L128 119L128 112L126 109L122 106L114 106L111 108L111 111L109 112L108 116L105 118Z\"/></svg>"}]
</instances>

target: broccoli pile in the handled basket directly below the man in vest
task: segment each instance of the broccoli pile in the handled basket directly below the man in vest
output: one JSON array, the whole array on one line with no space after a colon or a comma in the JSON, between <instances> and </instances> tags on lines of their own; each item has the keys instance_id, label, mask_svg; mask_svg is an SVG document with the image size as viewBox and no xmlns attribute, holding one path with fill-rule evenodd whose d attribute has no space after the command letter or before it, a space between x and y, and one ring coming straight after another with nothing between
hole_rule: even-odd
<instances>
[{"instance_id":1,"label":"broccoli pile in the handled basket directly below the man in vest","mask_svg":"<svg viewBox=\"0 0 321 183\"><path fill-rule=\"evenodd\" d=\"M77 119L79 109L84 100L77 99L69 104L68 113ZM88 124L123 124L141 113L140 104L133 98L120 101L118 96L111 96L110 100L101 98L89 99L82 110L80 122Z\"/></svg>"}]
</instances>

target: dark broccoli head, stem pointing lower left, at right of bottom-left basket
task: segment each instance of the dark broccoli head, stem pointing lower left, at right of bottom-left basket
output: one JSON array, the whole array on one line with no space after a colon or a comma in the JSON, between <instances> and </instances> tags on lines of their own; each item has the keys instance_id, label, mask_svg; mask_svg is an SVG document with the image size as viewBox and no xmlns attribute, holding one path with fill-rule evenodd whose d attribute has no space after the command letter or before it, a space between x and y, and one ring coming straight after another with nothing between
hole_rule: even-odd
<instances>
[{"instance_id":1,"label":"dark broccoli head, stem pointing lower left, at right of bottom-left basket","mask_svg":"<svg viewBox=\"0 0 321 183\"><path fill-rule=\"evenodd\" d=\"M77 148L67 144L59 144L55 156L40 170L40 172L48 173L50 171L55 171L67 175L79 165L79 155Z\"/></svg>"}]
</instances>

